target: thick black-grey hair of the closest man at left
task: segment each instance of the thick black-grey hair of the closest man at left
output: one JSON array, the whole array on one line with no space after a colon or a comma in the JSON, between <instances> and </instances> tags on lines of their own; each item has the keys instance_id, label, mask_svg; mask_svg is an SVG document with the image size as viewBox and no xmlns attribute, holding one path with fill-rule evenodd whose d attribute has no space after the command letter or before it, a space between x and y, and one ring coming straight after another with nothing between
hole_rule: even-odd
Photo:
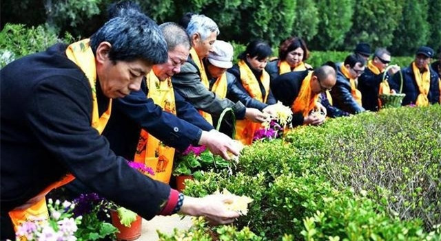
<instances>
[{"instance_id":1,"label":"thick black-grey hair of the closest man at left","mask_svg":"<svg viewBox=\"0 0 441 241\"><path fill-rule=\"evenodd\" d=\"M125 10L110 19L90 37L94 54L102 42L109 42L109 58L116 62L143 59L151 65L167 62L167 43L158 25L137 10Z\"/></svg>"}]
</instances>

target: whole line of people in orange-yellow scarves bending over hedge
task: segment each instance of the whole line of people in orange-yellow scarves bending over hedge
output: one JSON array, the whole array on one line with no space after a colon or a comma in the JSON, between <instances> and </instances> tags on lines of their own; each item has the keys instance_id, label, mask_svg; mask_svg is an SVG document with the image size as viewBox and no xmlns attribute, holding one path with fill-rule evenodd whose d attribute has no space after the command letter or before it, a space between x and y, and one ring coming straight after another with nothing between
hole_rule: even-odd
<instances>
[{"instance_id":1,"label":"whole line of people in orange-yellow scarves bending over hedge","mask_svg":"<svg viewBox=\"0 0 441 241\"><path fill-rule=\"evenodd\" d=\"M47 216L45 195L67 183L143 218L178 212L227 224L238 217L223 205L233 196L192 198L167 185L175 150L205 145L231 159L241 149L232 128L251 144L277 102L293 111L291 128L378 111L380 94L404 93L403 105L441 102L440 60L430 65L435 52L427 46L402 69L388 67L387 49L371 54L367 43L343 62L312 67L307 44L293 36L271 61L269 44L252 41L234 65L232 45L218 34L203 14L158 26L125 1L112 5L110 20L90 38L1 69L1 239L14 239L24 220ZM226 108L238 120L224 119L222 133L214 124Z\"/></svg>"}]
</instances>

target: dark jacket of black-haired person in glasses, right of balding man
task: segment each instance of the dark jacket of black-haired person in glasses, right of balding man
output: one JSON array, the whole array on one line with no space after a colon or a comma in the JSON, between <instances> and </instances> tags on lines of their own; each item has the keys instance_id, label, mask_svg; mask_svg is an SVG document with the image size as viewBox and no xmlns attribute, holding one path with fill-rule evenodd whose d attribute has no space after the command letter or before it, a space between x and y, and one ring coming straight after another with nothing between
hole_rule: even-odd
<instances>
[{"instance_id":1,"label":"dark jacket of black-haired person in glasses, right of balding man","mask_svg":"<svg viewBox=\"0 0 441 241\"><path fill-rule=\"evenodd\" d=\"M360 113L365 111L365 108L360 106L353 99L351 94L351 84L349 79L340 71L340 67L337 67L337 82L331 90L332 104L342 111L346 111L351 114Z\"/></svg>"}]
</instances>

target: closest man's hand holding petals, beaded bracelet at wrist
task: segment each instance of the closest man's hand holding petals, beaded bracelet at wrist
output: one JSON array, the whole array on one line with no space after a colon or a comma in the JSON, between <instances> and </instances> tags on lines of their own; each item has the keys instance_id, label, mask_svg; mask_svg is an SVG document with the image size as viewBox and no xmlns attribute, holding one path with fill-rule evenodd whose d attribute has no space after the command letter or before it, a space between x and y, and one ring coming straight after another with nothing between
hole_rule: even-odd
<instances>
[{"instance_id":1,"label":"closest man's hand holding petals, beaded bracelet at wrist","mask_svg":"<svg viewBox=\"0 0 441 241\"><path fill-rule=\"evenodd\" d=\"M203 198L185 196L179 213L204 216L211 225L226 225L239 217L238 212L228 210L225 206L225 203L231 203L233 198L234 196L225 194L213 194Z\"/></svg>"}]
</instances>

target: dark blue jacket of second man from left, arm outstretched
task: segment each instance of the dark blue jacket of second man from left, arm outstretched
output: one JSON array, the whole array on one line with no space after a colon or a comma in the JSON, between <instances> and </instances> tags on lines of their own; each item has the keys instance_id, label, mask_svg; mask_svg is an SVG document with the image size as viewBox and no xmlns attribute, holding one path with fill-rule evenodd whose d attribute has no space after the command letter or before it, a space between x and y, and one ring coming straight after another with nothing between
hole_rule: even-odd
<instances>
[{"instance_id":1,"label":"dark blue jacket of second man from left, arm outstretched","mask_svg":"<svg viewBox=\"0 0 441 241\"><path fill-rule=\"evenodd\" d=\"M186 102L178 92L174 91L176 115L189 123L162 111L160 106L146 97L147 93L148 89L143 81L140 91L114 100L112 115L103 135L109 140L110 148L116 154L128 160L133 159L141 128L167 146L178 150L185 150L189 144L196 144L202 130L213 129L196 108ZM167 130L167 126L172 126L172 131L163 132Z\"/></svg>"}]
</instances>

